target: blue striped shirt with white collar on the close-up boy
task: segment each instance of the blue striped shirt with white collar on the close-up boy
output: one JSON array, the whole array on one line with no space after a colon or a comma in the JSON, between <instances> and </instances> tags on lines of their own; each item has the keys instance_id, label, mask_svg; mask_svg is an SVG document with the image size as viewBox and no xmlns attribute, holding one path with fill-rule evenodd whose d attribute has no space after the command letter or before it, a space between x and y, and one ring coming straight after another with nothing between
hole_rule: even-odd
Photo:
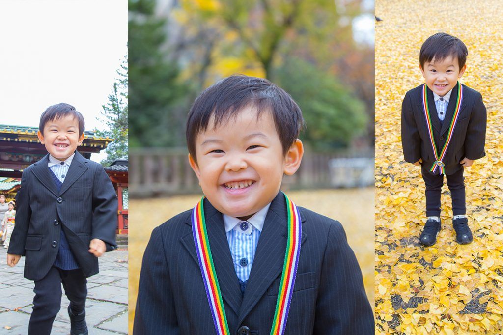
<instances>
[{"instance_id":1,"label":"blue striped shirt with white collar on the close-up boy","mask_svg":"<svg viewBox=\"0 0 503 335\"><path fill-rule=\"evenodd\" d=\"M225 232L229 242L230 255L237 278L246 282L255 258L260 233L264 227L267 211L271 203L246 221L223 214Z\"/></svg>"}]
</instances>

